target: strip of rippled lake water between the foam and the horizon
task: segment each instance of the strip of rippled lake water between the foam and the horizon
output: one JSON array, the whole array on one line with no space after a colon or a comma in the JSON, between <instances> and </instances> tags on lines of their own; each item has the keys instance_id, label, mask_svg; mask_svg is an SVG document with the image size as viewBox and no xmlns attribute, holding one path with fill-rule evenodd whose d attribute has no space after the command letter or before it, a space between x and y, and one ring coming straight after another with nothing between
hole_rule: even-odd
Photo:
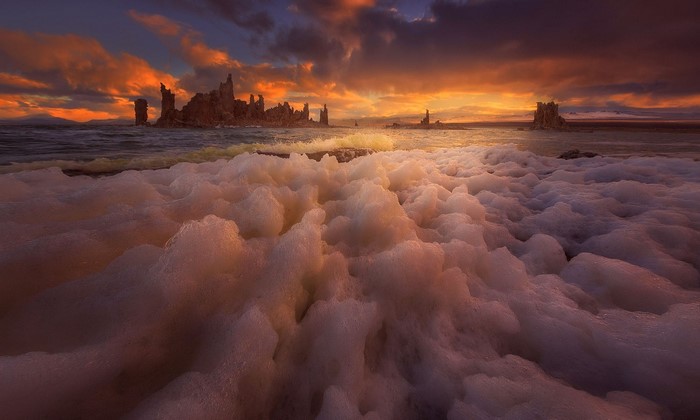
<instances>
[{"instance_id":1,"label":"strip of rippled lake water between the foam and the horizon","mask_svg":"<svg viewBox=\"0 0 700 420\"><path fill-rule=\"evenodd\" d=\"M293 144L292 148L290 144ZM304 153L341 145L377 150L435 150L504 144L514 144L521 150L543 156L557 156L567 150L579 149L618 157L700 157L700 133L669 131L558 132L518 131L514 128L190 130L129 126L0 126L0 173L50 166L78 172L111 173L124 169L168 167L177 162L230 159L256 150Z\"/></svg>"}]
</instances>

